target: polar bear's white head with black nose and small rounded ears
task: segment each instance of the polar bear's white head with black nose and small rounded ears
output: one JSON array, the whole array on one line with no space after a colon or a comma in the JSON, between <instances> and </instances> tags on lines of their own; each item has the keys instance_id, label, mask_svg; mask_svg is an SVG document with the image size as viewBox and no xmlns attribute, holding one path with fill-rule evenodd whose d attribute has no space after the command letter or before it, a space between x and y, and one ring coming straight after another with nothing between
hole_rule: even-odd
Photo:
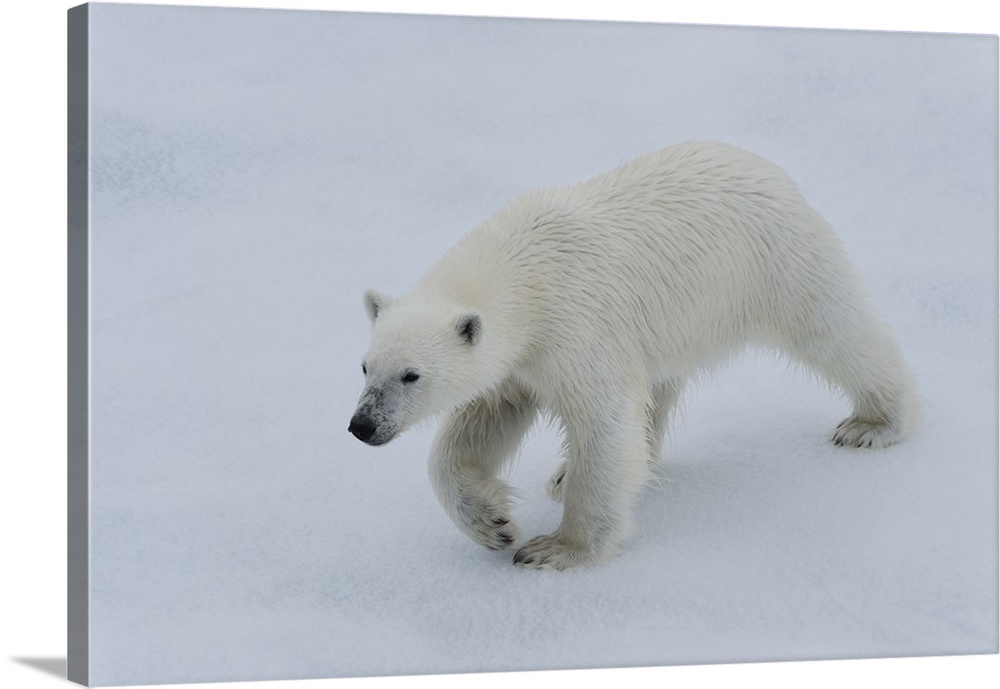
<instances>
[{"instance_id":1,"label":"polar bear's white head with black nose and small rounded ears","mask_svg":"<svg viewBox=\"0 0 1000 689\"><path fill-rule=\"evenodd\" d=\"M482 385L478 313L440 299L392 299L369 290L372 339L365 389L348 430L384 445L412 425L471 399Z\"/></svg>"}]
</instances>

